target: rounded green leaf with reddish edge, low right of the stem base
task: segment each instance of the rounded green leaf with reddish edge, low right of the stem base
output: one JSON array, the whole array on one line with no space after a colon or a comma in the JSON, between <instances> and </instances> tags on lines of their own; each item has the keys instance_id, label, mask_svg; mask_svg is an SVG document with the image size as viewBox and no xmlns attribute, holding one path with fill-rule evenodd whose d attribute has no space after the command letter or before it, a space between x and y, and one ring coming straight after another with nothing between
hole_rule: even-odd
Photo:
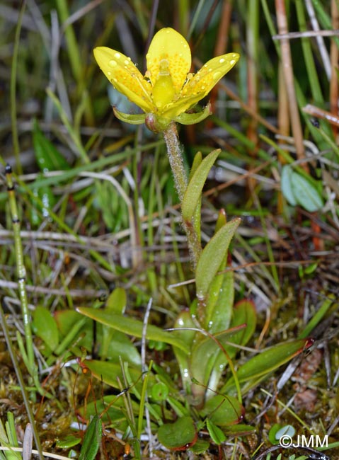
<instances>
[{"instance_id":1,"label":"rounded green leaf with reddish edge, low right of the stem base","mask_svg":"<svg viewBox=\"0 0 339 460\"><path fill-rule=\"evenodd\" d=\"M210 398L202 410L209 420L220 427L225 425L236 425L241 422L245 410L241 403L233 396L222 396L221 394Z\"/></svg>"}]
</instances>

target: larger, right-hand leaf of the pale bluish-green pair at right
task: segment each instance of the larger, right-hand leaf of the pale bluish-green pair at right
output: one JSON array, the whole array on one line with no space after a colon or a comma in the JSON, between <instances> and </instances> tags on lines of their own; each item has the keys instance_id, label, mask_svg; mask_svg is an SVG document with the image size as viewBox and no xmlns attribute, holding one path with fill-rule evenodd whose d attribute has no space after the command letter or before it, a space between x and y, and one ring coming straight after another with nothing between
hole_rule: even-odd
<instances>
[{"instance_id":1,"label":"larger, right-hand leaf of the pale bluish-green pair at right","mask_svg":"<svg viewBox=\"0 0 339 460\"><path fill-rule=\"evenodd\" d=\"M314 212L323 207L323 198L320 193L304 176L294 171L291 182L295 199L306 211Z\"/></svg>"}]
</instances>

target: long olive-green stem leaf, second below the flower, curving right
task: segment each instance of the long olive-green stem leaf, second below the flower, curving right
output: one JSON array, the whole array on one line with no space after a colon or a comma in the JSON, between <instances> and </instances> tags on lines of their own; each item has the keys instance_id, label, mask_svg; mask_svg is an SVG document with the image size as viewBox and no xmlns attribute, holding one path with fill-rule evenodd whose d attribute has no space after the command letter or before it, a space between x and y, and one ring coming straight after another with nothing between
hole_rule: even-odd
<instances>
[{"instance_id":1,"label":"long olive-green stem leaf, second below the flower, curving right","mask_svg":"<svg viewBox=\"0 0 339 460\"><path fill-rule=\"evenodd\" d=\"M239 218L227 222L214 234L203 249L195 270L195 285L199 300L204 300L207 297L209 285L217 275L220 264L229 248L229 243L231 243L240 222L241 219Z\"/></svg>"}]
</instances>

